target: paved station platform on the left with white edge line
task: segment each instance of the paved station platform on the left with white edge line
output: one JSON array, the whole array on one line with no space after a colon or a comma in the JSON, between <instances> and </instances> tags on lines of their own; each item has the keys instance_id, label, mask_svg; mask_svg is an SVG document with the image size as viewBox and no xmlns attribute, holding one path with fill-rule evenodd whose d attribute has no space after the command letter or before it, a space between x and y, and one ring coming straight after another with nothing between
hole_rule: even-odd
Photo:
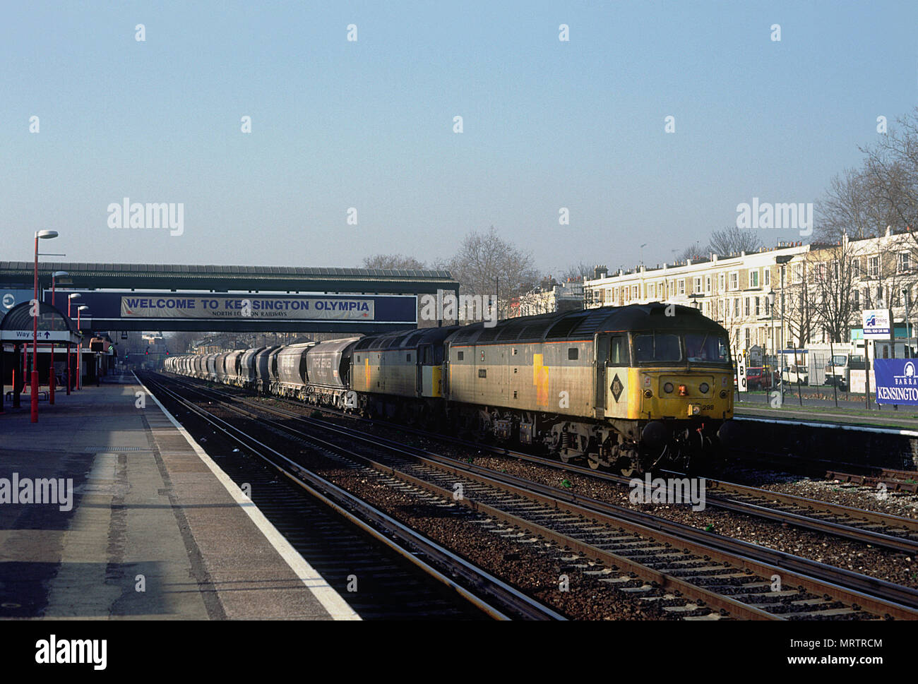
<instances>
[{"instance_id":1,"label":"paved station platform on the left with white edge line","mask_svg":"<svg viewBox=\"0 0 918 684\"><path fill-rule=\"evenodd\" d=\"M150 395L138 408L133 376L108 379L38 423L0 415L0 618L359 619Z\"/></svg>"}]
</instances>

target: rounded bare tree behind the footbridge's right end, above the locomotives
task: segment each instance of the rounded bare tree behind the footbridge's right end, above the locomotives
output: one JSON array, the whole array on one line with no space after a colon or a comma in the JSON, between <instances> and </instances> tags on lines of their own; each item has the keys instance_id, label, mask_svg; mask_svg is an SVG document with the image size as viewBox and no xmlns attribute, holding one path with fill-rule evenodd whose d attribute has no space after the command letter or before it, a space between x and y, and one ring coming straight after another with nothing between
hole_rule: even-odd
<instances>
[{"instance_id":1,"label":"rounded bare tree behind the footbridge's right end, above the locomotives","mask_svg":"<svg viewBox=\"0 0 918 684\"><path fill-rule=\"evenodd\" d=\"M539 282L532 255L501 240L494 226L486 232L468 233L459 252L442 265L460 282L465 294L498 294L501 318L507 316L511 297L520 297ZM498 280L500 291L496 293Z\"/></svg>"}]
</instances>

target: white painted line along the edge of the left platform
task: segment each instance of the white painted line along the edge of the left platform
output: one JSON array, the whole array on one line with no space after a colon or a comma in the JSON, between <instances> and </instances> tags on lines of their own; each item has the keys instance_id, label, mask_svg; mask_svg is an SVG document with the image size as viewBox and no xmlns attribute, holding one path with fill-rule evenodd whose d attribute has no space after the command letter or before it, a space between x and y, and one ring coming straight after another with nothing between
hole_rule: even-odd
<instances>
[{"instance_id":1,"label":"white painted line along the edge of the left platform","mask_svg":"<svg viewBox=\"0 0 918 684\"><path fill-rule=\"evenodd\" d=\"M204 461L205 465L210 468L210 471L217 476L220 484L229 492L229 496L231 496L233 500L239 504L240 508L248 514L249 518L252 519L252 522L255 523L268 542L274 546L274 550L280 554L286 564L290 566L290 569L296 573L297 577L306 585L307 589L309 589L313 596L319 600L322 607L329 612L331 618L333 620L360 620L360 615L354 612L353 608L347 604L347 601L341 598L341 594L332 588L330 584L325 581L325 578L319 575L319 573L308 564L306 558L300 555L297 549L290 545L283 534L277 532L277 528L274 527L271 521L264 517L263 512L258 510L258 507L252 503L252 500L248 499L242 493L239 486L223 472L219 465L214 463L214 460L207 455L207 452L201 448L201 445L196 443L195 439L185 430L182 423L175 420L173 414L162 406L160 400L140 382L140 378L136 375L134 378L137 380L138 385L143 387L144 391L146 391L153 401L156 402L156 405L162 410L166 418L172 421L176 430L185 437L185 440L191 445L191 448L195 450L198 458Z\"/></svg>"}]
</instances>

